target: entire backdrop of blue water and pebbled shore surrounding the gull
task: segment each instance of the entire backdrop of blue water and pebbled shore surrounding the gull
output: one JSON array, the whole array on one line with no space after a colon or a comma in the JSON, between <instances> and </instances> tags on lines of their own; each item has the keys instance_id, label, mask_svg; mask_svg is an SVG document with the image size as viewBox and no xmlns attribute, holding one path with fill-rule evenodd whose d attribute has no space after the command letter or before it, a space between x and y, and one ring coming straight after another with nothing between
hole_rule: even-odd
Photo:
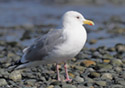
<instances>
[{"instance_id":1,"label":"entire backdrop of blue water and pebbled shore surrounding the gull","mask_svg":"<svg viewBox=\"0 0 125 88\"><path fill-rule=\"evenodd\" d=\"M85 25L86 45L68 61L72 82L56 81L54 64L9 71L69 10L95 23ZM62 64L62 80L64 71ZM125 88L125 0L0 0L0 88Z\"/></svg>"}]
</instances>

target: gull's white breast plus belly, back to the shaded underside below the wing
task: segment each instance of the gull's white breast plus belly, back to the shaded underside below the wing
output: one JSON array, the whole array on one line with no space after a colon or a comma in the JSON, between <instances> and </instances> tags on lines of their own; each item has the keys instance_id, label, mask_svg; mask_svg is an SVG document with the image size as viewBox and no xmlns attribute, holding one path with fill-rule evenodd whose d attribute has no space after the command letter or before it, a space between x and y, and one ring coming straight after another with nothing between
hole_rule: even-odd
<instances>
[{"instance_id":1,"label":"gull's white breast plus belly, back to the shaded underside below the wing","mask_svg":"<svg viewBox=\"0 0 125 88\"><path fill-rule=\"evenodd\" d=\"M72 59L83 48L87 34L84 27L81 26L74 30L64 30L64 37L66 37L66 41L56 46L56 49L46 57L47 62L60 63Z\"/></svg>"}]
</instances>

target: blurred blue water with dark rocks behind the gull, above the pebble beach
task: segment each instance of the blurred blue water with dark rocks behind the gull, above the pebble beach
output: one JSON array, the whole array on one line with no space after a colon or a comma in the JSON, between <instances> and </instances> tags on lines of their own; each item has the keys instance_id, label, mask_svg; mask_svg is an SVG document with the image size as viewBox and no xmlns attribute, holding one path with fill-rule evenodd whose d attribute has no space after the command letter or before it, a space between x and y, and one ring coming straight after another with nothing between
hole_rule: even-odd
<instances>
[{"instance_id":1,"label":"blurred blue water with dark rocks behind the gull, above the pebble beach","mask_svg":"<svg viewBox=\"0 0 125 88\"><path fill-rule=\"evenodd\" d=\"M95 22L95 26L85 25L85 47L125 44L125 0L0 0L0 41L26 47L57 28L68 10Z\"/></svg>"}]
</instances>

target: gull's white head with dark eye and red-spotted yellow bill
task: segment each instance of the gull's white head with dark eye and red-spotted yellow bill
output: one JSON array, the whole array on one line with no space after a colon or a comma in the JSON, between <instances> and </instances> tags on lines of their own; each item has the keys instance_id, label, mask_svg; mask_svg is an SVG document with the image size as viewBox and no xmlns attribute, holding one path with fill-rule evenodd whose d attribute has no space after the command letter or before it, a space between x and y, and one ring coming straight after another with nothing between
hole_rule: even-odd
<instances>
[{"instance_id":1,"label":"gull's white head with dark eye and red-spotted yellow bill","mask_svg":"<svg viewBox=\"0 0 125 88\"><path fill-rule=\"evenodd\" d=\"M94 22L91 20L87 20L83 17L83 15L76 11L68 11L63 16L63 24L88 24L88 25L94 25Z\"/></svg>"}]
</instances>

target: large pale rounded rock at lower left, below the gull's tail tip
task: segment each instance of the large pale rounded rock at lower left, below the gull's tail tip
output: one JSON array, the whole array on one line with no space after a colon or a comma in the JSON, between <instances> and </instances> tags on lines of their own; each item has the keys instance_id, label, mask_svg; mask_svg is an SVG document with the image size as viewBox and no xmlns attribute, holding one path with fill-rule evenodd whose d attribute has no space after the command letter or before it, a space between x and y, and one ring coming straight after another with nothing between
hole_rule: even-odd
<instances>
[{"instance_id":1,"label":"large pale rounded rock at lower left, below the gull's tail tip","mask_svg":"<svg viewBox=\"0 0 125 88\"><path fill-rule=\"evenodd\" d=\"M15 82L20 81L22 79L22 75L20 71L13 71L12 73L10 73L9 79L12 79Z\"/></svg>"}]
</instances>

